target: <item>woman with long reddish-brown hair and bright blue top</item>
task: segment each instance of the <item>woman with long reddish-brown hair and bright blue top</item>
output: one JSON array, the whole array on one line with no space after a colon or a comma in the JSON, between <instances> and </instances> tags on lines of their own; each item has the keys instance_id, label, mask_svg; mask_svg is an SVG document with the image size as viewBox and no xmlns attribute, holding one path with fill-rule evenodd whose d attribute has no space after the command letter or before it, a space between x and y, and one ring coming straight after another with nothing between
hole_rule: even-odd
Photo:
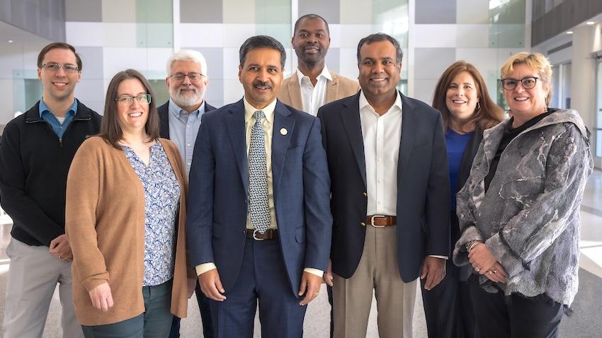
<instances>
[{"instance_id":1,"label":"woman with long reddish-brown hair and bright blue top","mask_svg":"<svg viewBox=\"0 0 602 338\"><path fill-rule=\"evenodd\" d=\"M453 249L460 238L455 194L468 178L483 131L504 120L504 112L489 98L479 71L465 61L454 62L445 69L433 95L433 107L443 115L445 127L451 192L450 247ZM435 289L422 289L428 337L478 337L467 284L470 268L456 267L448 260L446 270L445 279Z\"/></svg>"}]
</instances>

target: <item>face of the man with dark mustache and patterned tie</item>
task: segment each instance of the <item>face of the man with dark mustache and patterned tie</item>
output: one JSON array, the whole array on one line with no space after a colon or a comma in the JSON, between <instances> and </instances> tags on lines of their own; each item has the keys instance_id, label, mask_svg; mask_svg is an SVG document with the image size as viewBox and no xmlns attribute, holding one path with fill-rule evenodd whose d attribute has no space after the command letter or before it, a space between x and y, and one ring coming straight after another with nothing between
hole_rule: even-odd
<instances>
[{"instance_id":1,"label":"face of the man with dark mustache and patterned tie","mask_svg":"<svg viewBox=\"0 0 602 338\"><path fill-rule=\"evenodd\" d=\"M246 53L244 64L239 66L238 78L244 87L244 98L257 109L276 100L283 69L280 52L272 48L256 48Z\"/></svg>"}]
</instances>

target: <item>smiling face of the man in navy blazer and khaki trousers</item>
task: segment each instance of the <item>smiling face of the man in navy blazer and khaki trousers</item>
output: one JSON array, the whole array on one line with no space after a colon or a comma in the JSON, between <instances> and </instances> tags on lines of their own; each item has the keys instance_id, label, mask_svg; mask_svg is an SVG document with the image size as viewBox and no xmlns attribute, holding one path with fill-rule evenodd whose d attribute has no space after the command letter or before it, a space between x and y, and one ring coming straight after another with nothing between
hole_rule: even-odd
<instances>
[{"instance_id":1,"label":"smiling face of the man in navy blazer and khaki trousers","mask_svg":"<svg viewBox=\"0 0 602 338\"><path fill-rule=\"evenodd\" d=\"M376 41L360 47L360 86L368 100L380 95L395 95L402 63L389 41Z\"/></svg>"}]
</instances>

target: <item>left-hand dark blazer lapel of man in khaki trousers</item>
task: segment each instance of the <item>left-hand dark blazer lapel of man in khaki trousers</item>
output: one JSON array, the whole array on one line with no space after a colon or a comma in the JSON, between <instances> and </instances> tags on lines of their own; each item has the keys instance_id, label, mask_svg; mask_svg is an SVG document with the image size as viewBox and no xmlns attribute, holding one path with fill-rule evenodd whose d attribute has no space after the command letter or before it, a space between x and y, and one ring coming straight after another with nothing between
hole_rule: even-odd
<instances>
[{"instance_id":1,"label":"left-hand dark blazer lapel of man in khaki trousers","mask_svg":"<svg viewBox=\"0 0 602 338\"><path fill-rule=\"evenodd\" d=\"M353 149L353 154L356 156L356 162L358 163L358 168L362 174L365 188L368 187L368 185L366 185L365 178L364 141L360 122L360 94L357 93L345 100L343 107L346 107L346 109L341 110L339 114L341 115L343 126L347 132L349 144L351 144L351 149Z\"/></svg>"}]
</instances>

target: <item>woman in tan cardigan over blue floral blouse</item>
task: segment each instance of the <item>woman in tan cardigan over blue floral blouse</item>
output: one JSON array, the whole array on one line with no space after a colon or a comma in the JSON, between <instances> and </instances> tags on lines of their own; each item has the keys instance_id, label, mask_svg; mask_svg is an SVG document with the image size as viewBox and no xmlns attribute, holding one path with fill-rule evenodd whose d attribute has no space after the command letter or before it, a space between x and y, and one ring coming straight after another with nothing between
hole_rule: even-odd
<instances>
[{"instance_id":1,"label":"woman in tan cardigan over blue floral blouse","mask_svg":"<svg viewBox=\"0 0 602 338\"><path fill-rule=\"evenodd\" d=\"M167 337L172 314L186 317L185 177L176 146L159 139L148 81L121 71L101 133L81 145L67 179L73 299L86 337Z\"/></svg>"}]
</instances>

